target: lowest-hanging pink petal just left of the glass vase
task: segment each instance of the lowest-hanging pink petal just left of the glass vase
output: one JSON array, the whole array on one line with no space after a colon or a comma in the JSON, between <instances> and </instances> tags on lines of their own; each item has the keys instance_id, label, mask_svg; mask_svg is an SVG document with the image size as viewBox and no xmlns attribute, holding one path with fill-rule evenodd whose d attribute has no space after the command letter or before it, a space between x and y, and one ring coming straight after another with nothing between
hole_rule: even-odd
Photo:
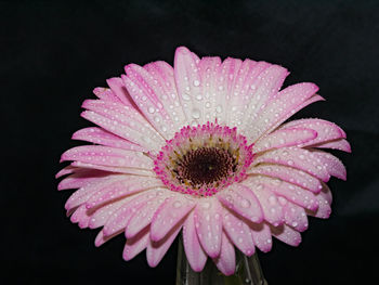
<instances>
[{"instance_id":1,"label":"lowest-hanging pink petal just left of the glass vase","mask_svg":"<svg viewBox=\"0 0 379 285\"><path fill-rule=\"evenodd\" d=\"M172 228L165 238L159 242L151 241L147 243L146 258L149 267L155 268L158 265L181 229L182 224L177 224L177 226Z\"/></svg>"}]
</instances>

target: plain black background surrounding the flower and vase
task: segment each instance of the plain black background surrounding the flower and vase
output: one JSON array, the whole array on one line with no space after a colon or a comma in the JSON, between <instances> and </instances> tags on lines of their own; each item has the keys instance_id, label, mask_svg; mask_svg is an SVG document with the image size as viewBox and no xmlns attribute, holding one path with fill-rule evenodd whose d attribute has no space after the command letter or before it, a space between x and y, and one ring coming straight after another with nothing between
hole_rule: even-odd
<instances>
[{"instance_id":1,"label":"plain black background surrounding the flower and vase","mask_svg":"<svg viewBox=\"0 0 379 285\"><path fill-rule=\"evenodd\" d=\"M144 254L122 260L123 236L95 248L96 231L65 217L70 191L54 173L71 133L91 126L79 114L92 89L127 63L172 64L178 46L319 86L327 101L295 117L347 131L353 153L335 154L348 181L331 179L331 218L310 218L299 247L275 241L259 258L270 284L375 284L378 14L379 1L1 1L1 284L174 283L177 244L155 269Z\"/></svg>"}]
</instances>

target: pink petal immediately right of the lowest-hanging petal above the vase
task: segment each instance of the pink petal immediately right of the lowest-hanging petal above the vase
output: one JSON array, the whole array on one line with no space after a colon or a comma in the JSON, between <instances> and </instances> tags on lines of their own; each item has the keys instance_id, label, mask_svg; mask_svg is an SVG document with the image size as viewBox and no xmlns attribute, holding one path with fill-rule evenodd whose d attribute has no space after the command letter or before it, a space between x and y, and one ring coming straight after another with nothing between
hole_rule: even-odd
<instances>
[{"instance_id":1,"label":"pink petal immediately right of the lowest-hanging petal above the vase","mask_svg":"<svg viewBox=\"0 0 379 285\"><path fill-rule=\"evenodd\" d=\"M246 256L256 251L249 225L228 210L223 210L223 229L228 238Z\"/></svg>"}]
</instances>

